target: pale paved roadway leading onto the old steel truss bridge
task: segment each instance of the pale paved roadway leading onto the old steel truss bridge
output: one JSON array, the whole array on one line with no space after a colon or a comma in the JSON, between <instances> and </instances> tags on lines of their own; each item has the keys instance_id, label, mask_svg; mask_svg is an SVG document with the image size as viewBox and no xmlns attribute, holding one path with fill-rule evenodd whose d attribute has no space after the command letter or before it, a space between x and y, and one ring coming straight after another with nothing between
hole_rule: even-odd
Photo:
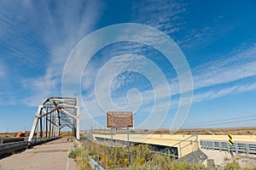
<instances>
[{"instance_id":1,"label":"pale paved roadway leading onto the old steel truss bridge","mask_svg":"<svg viewBox=\"0 0 256 170\"><path fill-rule=\"evenodd\" d=\"M73 147L73 142L67 142L67 139L56 139L46 144L37 145L30 150L0 160L0 170L74 170L76 164L68 158L68 150L71 147Z\"/></svg>"}]
</instances>

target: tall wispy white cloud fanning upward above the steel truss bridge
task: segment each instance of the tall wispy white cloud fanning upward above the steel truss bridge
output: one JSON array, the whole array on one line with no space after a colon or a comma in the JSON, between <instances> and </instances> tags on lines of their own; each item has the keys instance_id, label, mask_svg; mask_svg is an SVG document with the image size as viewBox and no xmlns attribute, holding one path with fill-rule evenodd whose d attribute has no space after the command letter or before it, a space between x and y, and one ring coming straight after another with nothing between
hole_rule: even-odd
<instances>
[{"instance_id":1,"label":"tall wispy white cloud fanning upward above the steel truss bridge","mask_svg":"<svg viewBox=\"0 0 256 170\"><path fill-rule=\"evenodd\" d=\"M40 11L36 11L36 4L29 3L38 20L38 28L42 32L44 45L49 48L49 59L46 62L45 74L41 77L27 78L23 82L29 83L26 87L31 95L24 101L27 105L39 105L45 98L52 95L61 95L61 76L67 60L74 46L94 29L99 16L102 14L102 3L98 1L60 3L56 8L49 8L47 2L41 2ZM44 19L44 23L39 23ZM23 83L24 84L24 83Z\"/></svg>"}]
</instances>

